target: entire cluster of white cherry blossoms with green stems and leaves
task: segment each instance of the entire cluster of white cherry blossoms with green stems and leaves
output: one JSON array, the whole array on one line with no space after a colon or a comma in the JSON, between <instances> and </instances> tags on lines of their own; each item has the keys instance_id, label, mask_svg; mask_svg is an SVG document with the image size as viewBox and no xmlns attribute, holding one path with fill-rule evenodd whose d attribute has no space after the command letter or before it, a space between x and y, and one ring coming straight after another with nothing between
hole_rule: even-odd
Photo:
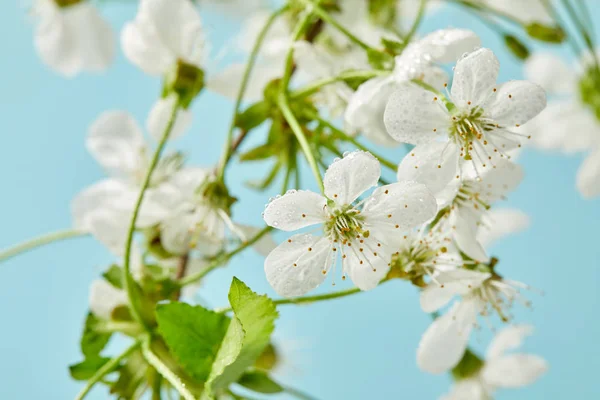
<instances>
[{"instance_id":1,"label":"entire cluster of white cherry blossoms with green stems and leaves","mask_svg":"<svg viewBox=\"0 0 600 400\"><path fill-rule=\"evenodd\" d=\"M529 224L523 212L500 205L523 179L522 147L589 152L577 188L585 197L600 194L599 56L583 52L575 74L505 34L509 50L527 58L528 80L499 82L500 62L475 32L416 34L441 0L290 0L276 11L268 3L140 0L120 32L120 50L161 79L162 93L143 128L122 110L92 122L85 145L108 177L82 190L71 209L76 232L115 257L92 284L84 337L109 332L137 341L112 359L100 356L103 346L92 353L82 346L85 360L71 372L76 379L83 369L94 374L82 378L88 386L80 398L129 362L155 370L165 390L186 399L240 398L231 384L261 392L264 379L269 390L283 391L269 376L277 361L275 306L389 281L417 287L423 312L434 316L415 357L423 371L453 373L443 399L489 399L500 388L533 383L547 362L509 353L532 333L513 324L513 306L529 307L522 292L531 288L506 277L489 249ZM490 20L518 21L535 40L565 39L541 1L454 3ZM208 67L215 63L204 7L243 19L231 42L247 62ZM66 77L109 68L113 32L91 1L39 0L34 9L35 46L46 65ZM184 152L163 150L189 133L190 106L204 90L236 103L220 160L200 167L188 165ZM546 93L568 98L551 98L546 108ZM263 128L262 144L240 147ZM387 160L381 147L401 156ZM273 185L282 182L262 212L264 227L240 223L233 211L244 200L228 184L234 158L274 161L254 184L276 194ZM308 169L318 192L304 189L312 184L301 174ZM277 243L277 230L294 233ZM202 278L249 246L265 256L264 276L283 299L258 296L234 279L230 309L182 307L194 302ZM307 296L340 280L356 288ZM498 323L505 326L485 358L478 356L468 347L472 331ZM264 375L260 385L248 383L252 374ZM118 382L111 390L135 398L152 386L136 383L131 393Z\"/></svg>"}]
</instances>

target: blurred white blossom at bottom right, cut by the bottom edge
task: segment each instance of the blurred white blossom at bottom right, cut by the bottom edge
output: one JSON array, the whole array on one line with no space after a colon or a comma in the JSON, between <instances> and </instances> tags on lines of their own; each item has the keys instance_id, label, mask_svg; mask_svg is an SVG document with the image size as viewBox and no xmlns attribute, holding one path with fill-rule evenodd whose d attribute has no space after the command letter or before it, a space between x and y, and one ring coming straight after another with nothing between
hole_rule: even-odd
<instances>
[{"instance_id":1,"label":"blurred white blossom at bottom right, cut by the bottom edge","mask_svg":"<svg viewBox=\"0 0 600 400\"><path fill-rule=\"evenodd\" d=\"M548 370L543 358L526 353L507 353L521 346L531 335L530 325L513 325L502 329L490 343L486 359L474 375L456 382L441 400L486 400L498 389L531 385Z\"/></svg>"}]
</instances>

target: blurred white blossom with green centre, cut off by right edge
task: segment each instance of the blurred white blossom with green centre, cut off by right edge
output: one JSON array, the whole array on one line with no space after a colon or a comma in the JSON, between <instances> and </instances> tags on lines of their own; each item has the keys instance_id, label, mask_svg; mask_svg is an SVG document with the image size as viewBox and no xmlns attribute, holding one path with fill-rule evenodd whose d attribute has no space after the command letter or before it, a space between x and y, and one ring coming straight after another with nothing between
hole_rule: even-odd
<instances>
[{"instance_id":1,"label":"blurred white blossom with green centre, cut off by right edge","mask_svg":"<svg viewBox=\"0 0 600 400\"><path fill-rule=\"evenodd\" d=\"M591 55L580 66L568 66L560 57L538 53L525 64L528 79L538 82L554 99L524 129L532 144L566 154L587 152L577 172L577 189L585 198L600 195L600 119L595 99L600 77Z\"/></svg>"}]
</instances>

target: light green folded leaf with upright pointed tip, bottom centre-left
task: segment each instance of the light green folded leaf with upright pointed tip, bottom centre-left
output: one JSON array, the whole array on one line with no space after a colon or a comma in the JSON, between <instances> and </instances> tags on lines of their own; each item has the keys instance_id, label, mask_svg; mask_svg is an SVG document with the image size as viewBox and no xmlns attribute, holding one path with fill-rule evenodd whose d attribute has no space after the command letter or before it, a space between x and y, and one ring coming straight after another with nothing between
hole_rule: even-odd
<instances>
[{"instance_id":1,"label":"light green folded leaf with upright pointed tip, bottom centre-left","mask_svg":"<svg viewBox=\"0 0 600 400\"><path fill-rule=\"evenodd\" d=\"M207 382L204 398L236 382L269 345L277 310L267 296L259 296L237 278L229 289L234 318L229 324Z\"/></svg>"}]
</instances>

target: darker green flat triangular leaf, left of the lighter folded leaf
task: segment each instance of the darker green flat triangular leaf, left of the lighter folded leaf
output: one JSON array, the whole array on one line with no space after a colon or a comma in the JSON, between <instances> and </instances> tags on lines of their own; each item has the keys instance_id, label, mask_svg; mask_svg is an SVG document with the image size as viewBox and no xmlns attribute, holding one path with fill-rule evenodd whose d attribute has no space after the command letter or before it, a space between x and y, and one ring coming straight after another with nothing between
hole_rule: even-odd
<instances>
[{"instance_id":1,"label":"darker green flat triangular leaf, left of the lighter folded leaf","mask_svg":"<svg viewBox=\"0 0 600 400\"><path fill-rule=\"evenodd\" d=\"M156 318L159 332L178 364L194 379L206 381L229 318L186 303L159 304Z\"/></svg>"}]
</instances>

